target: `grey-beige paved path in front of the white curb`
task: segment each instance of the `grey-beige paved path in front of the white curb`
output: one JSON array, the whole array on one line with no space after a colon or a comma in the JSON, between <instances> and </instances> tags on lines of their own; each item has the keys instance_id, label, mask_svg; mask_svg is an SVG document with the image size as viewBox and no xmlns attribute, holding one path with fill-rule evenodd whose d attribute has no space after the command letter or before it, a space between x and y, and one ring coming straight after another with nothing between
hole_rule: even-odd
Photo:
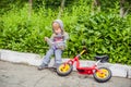
<instances>
[{"instance_id":1,"label":"grey-beige paved path in front of the white curb","mask_svg":"<svg viewBox=\"0 0 131 87\"><path fill-rule=\"evenodd\" d=\"M52 70L0 61L0 87L131 87L131 79L112 77L100 84L76 72L60 77Z\"/></svg>"}]
</instances>

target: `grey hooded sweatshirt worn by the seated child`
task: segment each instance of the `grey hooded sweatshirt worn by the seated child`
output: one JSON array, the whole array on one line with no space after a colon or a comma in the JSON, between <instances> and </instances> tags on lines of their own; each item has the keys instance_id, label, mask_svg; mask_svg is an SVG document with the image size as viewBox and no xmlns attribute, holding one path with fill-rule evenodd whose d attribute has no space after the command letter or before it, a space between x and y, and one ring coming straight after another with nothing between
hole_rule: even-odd
<instances>
[{"instance_id":1,"label":"grey hooded sweatshirt worn by the seated child","mask_svg":"<svg viewBox=\"0 0 131 87\"><path fill-rule=\"evenodd\" d=\"M66 42L69 39L69 35L68 33L64 32L63 23L61 20L55 20L52 23L59 24L61 28L61 34L56 34L52 28L53 34L51 35L50 39L47 40L47 42L51 48L64 50L67 47ZM60 40L60 41L57 42L57 40Z\"/></svg>"}]
</instances>

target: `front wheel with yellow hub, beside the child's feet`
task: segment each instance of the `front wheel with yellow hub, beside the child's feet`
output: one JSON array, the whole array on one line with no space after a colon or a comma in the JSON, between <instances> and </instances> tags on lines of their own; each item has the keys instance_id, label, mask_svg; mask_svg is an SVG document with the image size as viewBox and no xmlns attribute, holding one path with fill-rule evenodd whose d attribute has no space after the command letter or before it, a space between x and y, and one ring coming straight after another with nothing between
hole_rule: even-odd
<instances>
[{"instance_id":1,"label":"front wheel with yellow hub, beside the child's feet","mask_svg":"<svg viewBox=\"0 0 131 87\"><path fill-rule=\"evenodd\" d=\"M67 76L72 72L73 67L70 64L60 64L57 67L57 74L60 76Z\"/></svg>"}]
</instances>

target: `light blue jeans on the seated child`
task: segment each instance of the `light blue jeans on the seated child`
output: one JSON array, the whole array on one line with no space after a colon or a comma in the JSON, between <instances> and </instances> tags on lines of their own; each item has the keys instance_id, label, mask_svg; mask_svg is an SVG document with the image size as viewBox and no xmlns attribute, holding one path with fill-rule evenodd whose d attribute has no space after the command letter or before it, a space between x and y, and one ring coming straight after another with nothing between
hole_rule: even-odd
<instances>
[{"instance_id":1,"label":"light blue jeans on the seated child","mask_svg":"<svg viewBox=\"0 0 131 87\"><path fill-rule=\"evenodd\" d=\"M50 57L51 57L52 54L55 54L55 63L56 63L56 64L60 64L60 63L62 62L62 60L61 60L62 50L50 48L50 49L47 51L46 55L44 57L43 63L49 64L49 62L50 62Z\"/></svg>"}]
</instances>

